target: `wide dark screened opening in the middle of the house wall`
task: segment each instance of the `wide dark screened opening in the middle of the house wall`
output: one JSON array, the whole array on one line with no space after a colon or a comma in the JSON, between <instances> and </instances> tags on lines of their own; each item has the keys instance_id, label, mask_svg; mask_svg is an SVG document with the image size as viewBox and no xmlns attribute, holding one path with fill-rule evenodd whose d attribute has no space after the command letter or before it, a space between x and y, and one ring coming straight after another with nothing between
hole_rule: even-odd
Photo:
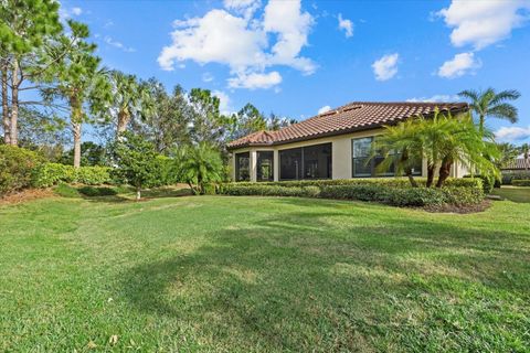
<instances>
[{"instance_id":1,"label":"wide dark screened opening in the middle of the house wall","mask_svg":"<svg viewBox=\"0 0 530 353\"><path fill-rule=\"evenodd\" d=\"M331 143L279 151L279 179L331 178Z\"/></svg>"}]
</instances>

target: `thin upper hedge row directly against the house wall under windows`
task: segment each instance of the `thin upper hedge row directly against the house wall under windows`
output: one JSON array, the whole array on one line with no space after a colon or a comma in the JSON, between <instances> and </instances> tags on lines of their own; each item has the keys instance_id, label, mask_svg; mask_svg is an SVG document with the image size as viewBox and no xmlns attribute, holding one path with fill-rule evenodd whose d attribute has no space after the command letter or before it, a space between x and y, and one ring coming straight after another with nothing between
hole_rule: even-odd
<instances>
[{"instance_id":1,"label":"thin upper hedge row directly against the house wall under windows","mask_svg":"<svg viewBox=\"0 0 530 353\"><path fill-rule=\"evenodd\" d=\"M420 185L425 185L426 178L416 178ZM256 185L254 182L237 182L237 185ZM258 182L259 185L274 185L286 188L304 188L304 186L331 186L331 185L384 185L392 188L411 188L411 183L406 178L356 178L356 179L320 179L320 180L294 180L294 181L276 181L276 182ZM483 181L479 178L454 179L449 178L445 182L445 186L467 186L481 188Z\"/></svg>"}]
</instances>

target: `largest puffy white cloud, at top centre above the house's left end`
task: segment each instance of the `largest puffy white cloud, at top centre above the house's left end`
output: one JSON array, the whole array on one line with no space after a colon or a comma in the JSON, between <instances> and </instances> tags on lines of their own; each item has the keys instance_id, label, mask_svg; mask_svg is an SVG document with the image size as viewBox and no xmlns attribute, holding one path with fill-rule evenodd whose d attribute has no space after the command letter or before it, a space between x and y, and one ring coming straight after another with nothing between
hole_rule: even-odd
<instances>
[{"instance_id":1,"label":"largest puffy white cloud, at top centre above the house's left end","mask_svg":"<svg viewBox=\"0 0 530 353\"><path fill-rule=\"evenodd\" d=\"M300 0L269 0L263 17L241 15L242 9L258 9L259 1L226 0L224 6L226 9L211 10L202 18L176 20L172 43L158 57L160 67L171 71L177 62L188 60L201 65L219 63L230 67L229 86L251 89L282 82L279 73L266 72L275 65L304 74L315 72L312 61L299 55L312 24L311 15L301 12ZM269 34L275 34L272 43ZM263 86L257 86L258 82Z\"/></svg>"}]
</instances>

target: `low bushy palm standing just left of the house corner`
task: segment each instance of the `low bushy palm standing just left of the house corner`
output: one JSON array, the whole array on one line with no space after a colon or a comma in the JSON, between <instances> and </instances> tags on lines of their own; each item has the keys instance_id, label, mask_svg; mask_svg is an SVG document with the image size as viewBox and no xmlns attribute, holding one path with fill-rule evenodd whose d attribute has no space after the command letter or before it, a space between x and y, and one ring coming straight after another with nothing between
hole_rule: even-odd
<instances>
[{"instance_id":1,"label":"low bushy palm standing just left of the house corner","mask_svg":"<svg viewBox=\"0 0 530 353\"><path fill-rule=\"evenodd\" d=\"M208 142L180 148L176 163L180 179L190 185L193 194L204 194L206 184L223 181L223 160L219 150Z\"/></svg>"}]
</instances>

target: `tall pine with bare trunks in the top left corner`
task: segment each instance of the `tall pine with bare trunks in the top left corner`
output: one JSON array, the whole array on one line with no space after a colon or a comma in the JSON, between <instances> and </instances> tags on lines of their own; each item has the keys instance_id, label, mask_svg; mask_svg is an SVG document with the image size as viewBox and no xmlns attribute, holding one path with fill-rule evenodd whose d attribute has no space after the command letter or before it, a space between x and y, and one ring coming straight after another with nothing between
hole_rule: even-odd
<instances>
[{"instance_id":1,"label":"tall pine with bare trunks in the top left corner","mask_svg":"<svg viewBox=\"0 0 530 353\"><path fill-rule=\"evenodd\" d=\"M25 81L39 82L50 63L39 50L62 31L59 21L60 3L53 0L2 0L0 2L0 55L2 78L2 120L4 139L18 143L19 93ZM10 76L10 79L8 78ZM8 87L11 88L11 107Z\"/></svg>"}]
</instances>

